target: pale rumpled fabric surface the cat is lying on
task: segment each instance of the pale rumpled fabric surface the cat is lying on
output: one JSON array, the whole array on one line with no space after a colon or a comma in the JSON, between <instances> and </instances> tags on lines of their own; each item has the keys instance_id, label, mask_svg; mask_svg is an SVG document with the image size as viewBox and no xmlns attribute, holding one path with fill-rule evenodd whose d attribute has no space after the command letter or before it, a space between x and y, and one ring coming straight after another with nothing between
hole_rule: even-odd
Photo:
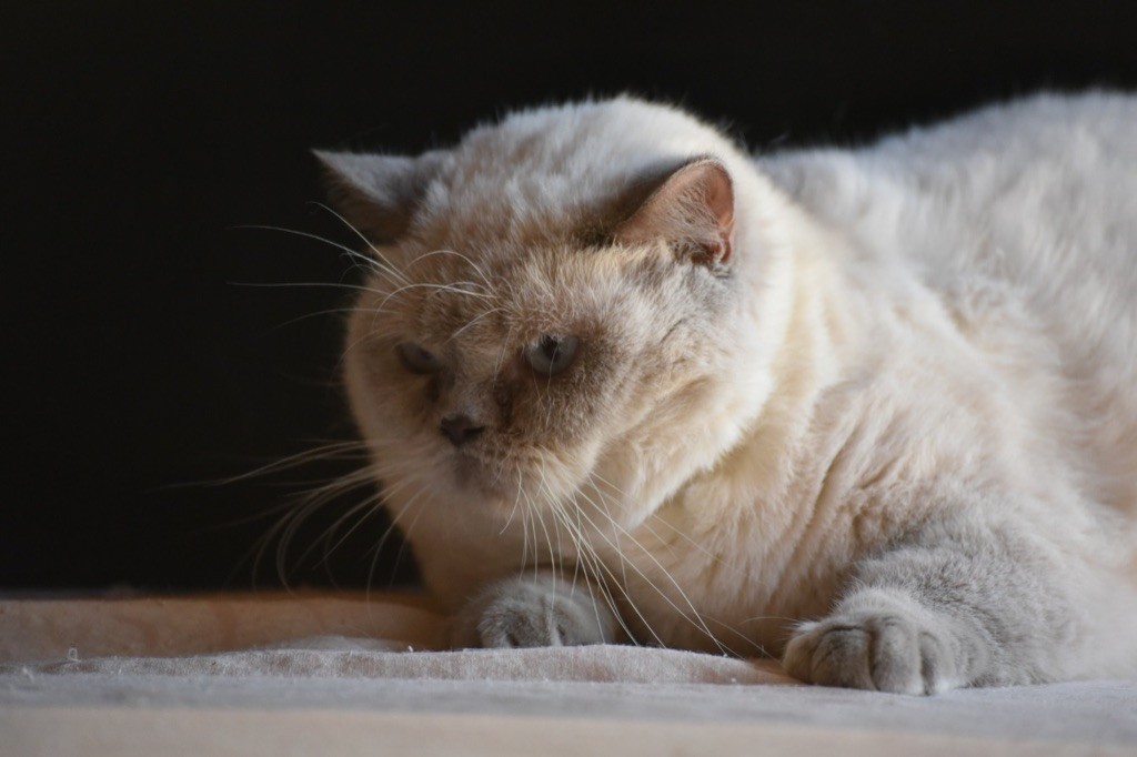
<instances>
[{"instance_id":1,"label":"pale rumpled fabric surface the cat is lying on","mask_svg":"<svg viewBox=\"0 0 1137 757\"><path fill-rule=\"evenodd\" d=\"M414 596L0 601L0 754L1137 754L1137 681L911 698L440 626Z\"/></svg>"}]
</instances>

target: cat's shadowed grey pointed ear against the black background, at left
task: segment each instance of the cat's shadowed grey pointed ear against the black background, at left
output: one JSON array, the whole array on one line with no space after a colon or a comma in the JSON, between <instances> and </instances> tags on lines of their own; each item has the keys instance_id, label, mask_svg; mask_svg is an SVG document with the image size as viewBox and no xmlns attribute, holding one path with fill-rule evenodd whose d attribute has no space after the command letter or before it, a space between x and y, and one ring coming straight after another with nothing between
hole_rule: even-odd
<instances>
[{"instance_id":1,"label":"cat's shadowed grey pointed ear against the black background, at left","mask_svg":"<svg viewBox=\"0 0 1137 757\"><path fill-rule=\"evenodd\" d=\"M323 165L332 206L345 221L379 244L392 244L406 233L442 160L441 152L426 152L417 158L313 152Z\"/></svg>"}]
</instances>

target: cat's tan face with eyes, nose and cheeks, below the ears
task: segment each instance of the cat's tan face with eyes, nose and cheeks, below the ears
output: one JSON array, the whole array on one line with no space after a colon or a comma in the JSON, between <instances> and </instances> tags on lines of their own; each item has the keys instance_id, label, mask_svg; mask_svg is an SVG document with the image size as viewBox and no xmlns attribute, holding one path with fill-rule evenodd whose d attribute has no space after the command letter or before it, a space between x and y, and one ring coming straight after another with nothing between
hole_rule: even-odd
<instances>
[{"instance_id":1,"label":"cat's tan face with eyes, nose and cheeks, below the ears","mask_svg":"<svg viewBox=\"0 0 1137 757\"><path fill-rule=\"evenodd\" d=\"M563 502L714 363L712 276L666 247L474 256L414 250L357 301L349 385L389 485Z\"/></svg>"}]
</instances>

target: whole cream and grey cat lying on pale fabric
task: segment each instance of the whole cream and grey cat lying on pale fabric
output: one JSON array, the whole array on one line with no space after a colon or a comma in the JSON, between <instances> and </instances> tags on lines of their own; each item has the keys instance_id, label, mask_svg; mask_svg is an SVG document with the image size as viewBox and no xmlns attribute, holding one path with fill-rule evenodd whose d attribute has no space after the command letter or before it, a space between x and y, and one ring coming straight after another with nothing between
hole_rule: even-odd
<instances>
[{"instance_id":1,"label":"whole cream and grey cat lying on pale fabric","mask_svg":"<svg viewBox=\"0 0 1137 757\"><path fill-rule=\"evenodd\" d=\"M1137 99L753 157L617 97L317 157L367 241L350 405L455 646L1137 672Z\"/></svg>"}]
</instances>

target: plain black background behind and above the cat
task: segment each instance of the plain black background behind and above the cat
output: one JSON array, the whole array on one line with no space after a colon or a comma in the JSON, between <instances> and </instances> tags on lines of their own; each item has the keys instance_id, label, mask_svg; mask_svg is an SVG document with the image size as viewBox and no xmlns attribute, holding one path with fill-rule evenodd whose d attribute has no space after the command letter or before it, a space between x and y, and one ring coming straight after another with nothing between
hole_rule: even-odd
<instances>
[{"instance_id":1,"label":"plain black background behind and above the cat","mask_svg":"<svg viewBox=\"0 0 1137 757\"><path fill-rule=\"evenodd\" d=\"M0 588L280 582L273 524L356 465L222 483L352 438L325 313L347 261L241 228L350 242L309 203L310 147L418 151L620 91L757 149L855 143L1039 88L1137 88L1129 2L180 5L0 17ZM325 285L276 286L301 283ZM299 529L292 584L408 579L397 540L376 558L381 516L324 536L367 493Z\"/></svg>"}]
</instances>

